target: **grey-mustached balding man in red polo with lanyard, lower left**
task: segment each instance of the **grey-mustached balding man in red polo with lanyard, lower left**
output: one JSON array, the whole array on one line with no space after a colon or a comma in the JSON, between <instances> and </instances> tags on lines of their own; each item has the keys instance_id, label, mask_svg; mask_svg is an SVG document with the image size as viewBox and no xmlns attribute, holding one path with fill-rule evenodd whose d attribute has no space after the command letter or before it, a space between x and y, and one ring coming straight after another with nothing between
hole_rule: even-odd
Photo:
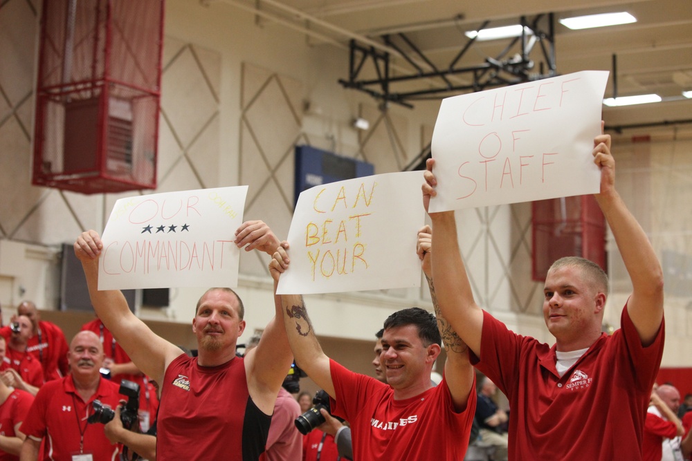
<instances>
[{"instance_id":1,"label":"grey-mustached balding man in red polo with lanyard, lower left","mask_svg":"<svg viewBox=\"0 0 692 461\"><path fill-rule=\"evenodd\" d=\"M72 339L67 353L71 374L48 382L39 389L21 431L26 440L21 447L21 460L38 459L42 440L44 451L55 460L111 460L120 452L120 445L111 444L102 424L89 424L93 402L116 408L120 404L118 384L103 379L99 373L104 354L101 341L91 331L79 332ZM89 458L91 456L91 458Z\"/></svg>"}]
</instances>

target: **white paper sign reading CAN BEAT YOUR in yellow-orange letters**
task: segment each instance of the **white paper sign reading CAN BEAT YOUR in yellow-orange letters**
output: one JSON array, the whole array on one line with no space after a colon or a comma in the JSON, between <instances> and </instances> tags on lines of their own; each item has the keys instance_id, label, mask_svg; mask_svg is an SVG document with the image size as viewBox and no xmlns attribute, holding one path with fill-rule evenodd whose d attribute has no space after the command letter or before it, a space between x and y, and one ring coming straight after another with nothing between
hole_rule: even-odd
<instances>
[{"instance_id":1,"label":"white paper sign reading CAN BEAT YOUR in yellow-orange letters","mask_svg":"<svg viewBox=\"0 0 692 461\"><path fill-rule=\"evenodd\" d=\"M423 173L385 173L303 191L289 229L289 269L278 294L421 284L416 254L425 222Z\"/></svg>"}]
</instances>

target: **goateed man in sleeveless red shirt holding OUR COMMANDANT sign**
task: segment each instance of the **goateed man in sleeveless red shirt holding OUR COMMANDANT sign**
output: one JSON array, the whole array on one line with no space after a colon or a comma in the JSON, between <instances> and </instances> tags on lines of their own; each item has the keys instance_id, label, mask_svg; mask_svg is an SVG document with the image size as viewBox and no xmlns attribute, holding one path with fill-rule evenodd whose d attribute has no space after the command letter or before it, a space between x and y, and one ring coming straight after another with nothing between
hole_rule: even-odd
<instances>
[{"instance_id":1,"label":"goateed man in sleeveless red shirt holding OUR COMMANDANT sign","mask_svg":"<svg viewBox=\"0 0 692 461\"><path fill-rule=\"evenodd\" d=\"M279 244L262 221L243 223L235 237L238 247L268 254ZM120 290L98 290L103 244L96 232L83 232L74 249L96 314L134 364L161 384L157 457L257 460L293 360L282 319L271 319L260 344L237 357L235 346L245 329L243 303L230 288L211 288L192 319L199 356L188 357L135 317Z\"/></svg>"}]
</instances>

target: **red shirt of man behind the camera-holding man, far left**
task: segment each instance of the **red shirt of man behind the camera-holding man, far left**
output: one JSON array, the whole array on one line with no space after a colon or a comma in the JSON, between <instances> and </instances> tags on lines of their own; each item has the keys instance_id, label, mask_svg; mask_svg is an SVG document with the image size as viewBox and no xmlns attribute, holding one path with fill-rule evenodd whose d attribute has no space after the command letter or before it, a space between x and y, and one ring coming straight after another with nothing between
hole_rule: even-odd
<instances>
[{"instance_id":1,"label":"red shirt of man behind the camera-holding man, far left","mask_svg":"<svg viewBox=\"0 0 692 461\"><path fill-rule=\"evenodd\" d=\"M0 335L10 341L12 330L4 326L0 328ZM67 361L69 347L64 333L55 323L39 321L37 333L26 341L26 350L41 363L46 381L60 379L70 373Z\"/></svg>"}]
</instances>

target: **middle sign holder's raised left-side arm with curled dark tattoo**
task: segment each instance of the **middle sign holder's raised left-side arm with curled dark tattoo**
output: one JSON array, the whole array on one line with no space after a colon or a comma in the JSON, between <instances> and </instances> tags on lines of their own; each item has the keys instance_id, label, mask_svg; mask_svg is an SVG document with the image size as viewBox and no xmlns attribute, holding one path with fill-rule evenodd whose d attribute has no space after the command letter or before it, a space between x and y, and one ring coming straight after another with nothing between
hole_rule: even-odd
<instances>
[{"instance_id":1,"label":"middle sign holder's raised left-side arm with curled dark tattoo","mask_svg":"<svg viewBox=\"0 0 692 461\"><path fill-rule=\"evenodd\" d=\"M275 281L274 299L276 307L282 311L286 335L289 337L289 344L296 364L327 394L335 397L329 357L325 355L317 341L302 296L300 294L282 294L280 296L276 294L279 276L289 267L290 261L286 252L288 247L289 244L283 242L269 263L269 271Z\"/></svg>"}]
</instances>

